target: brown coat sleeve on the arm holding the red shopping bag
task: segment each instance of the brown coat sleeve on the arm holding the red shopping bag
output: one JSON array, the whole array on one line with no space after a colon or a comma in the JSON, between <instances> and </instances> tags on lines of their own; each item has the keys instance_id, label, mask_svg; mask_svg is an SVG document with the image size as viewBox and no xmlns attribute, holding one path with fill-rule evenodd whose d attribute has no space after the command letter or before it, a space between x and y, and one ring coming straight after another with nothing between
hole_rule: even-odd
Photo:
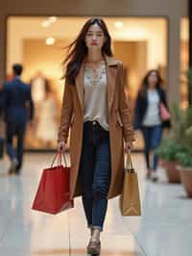
<instances>
[{"instance_id":1,"label":"brown coat sleeve on the arm holding the red shopping bag","mask_svg":"<svg viewBox=\"0 0 192 256\"><path fill-rule=\"evenodd\" d=\"M60 141L64 141L65 143L67 142L72 114L73 114L72 90L71 90L71 86L65 83L64 93L62 97L58 142Z\"/></svg>"}]
</instances>

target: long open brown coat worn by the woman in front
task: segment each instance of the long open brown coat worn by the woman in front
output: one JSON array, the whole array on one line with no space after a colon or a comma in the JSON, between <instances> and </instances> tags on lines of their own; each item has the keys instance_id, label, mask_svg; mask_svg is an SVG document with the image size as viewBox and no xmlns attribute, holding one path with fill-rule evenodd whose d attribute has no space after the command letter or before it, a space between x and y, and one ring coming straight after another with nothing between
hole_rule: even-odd
<instances>
[{"instance_id":1,"label":"long open brown coat worn by the woman in front","mask_svg":"<svg viewBox=\"0 0 192 256\"><path fill-rule=\"evenodd\" d=\"M108 198L122 191L124 145L125 141L134 141L131 113L126 100L123 85L123 64L106 56L108 80L108 124L111 154L111 178ZM78 177L84 129L84 64L76 77L76 85L65 85L58 141L67 141L70 130L70 196L81 195Z\"/></svg>"}]
</instances>

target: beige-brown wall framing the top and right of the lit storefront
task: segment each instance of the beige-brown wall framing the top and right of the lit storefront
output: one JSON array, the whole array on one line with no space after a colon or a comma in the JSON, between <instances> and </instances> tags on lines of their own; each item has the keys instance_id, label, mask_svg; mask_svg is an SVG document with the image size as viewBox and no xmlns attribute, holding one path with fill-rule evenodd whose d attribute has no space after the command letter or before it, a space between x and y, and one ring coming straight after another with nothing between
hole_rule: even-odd
<instances>
[{"instance_id":1,"label":"beige-brown wall framing the top and right of the lit storefront","mask_svg":"<svg viewBox=\"0 0 192 256\"><path fill-rule=\"evenodd\" d=\"M0 83L5 75L6 16L9 14L35 15L115 15L167 16L168 38L168 96L170 101L180 97L180 17L187 14L187 0L7 0L0 2ZM30 28L29 28L30 29Z\"/></svg>"}]
</instances>

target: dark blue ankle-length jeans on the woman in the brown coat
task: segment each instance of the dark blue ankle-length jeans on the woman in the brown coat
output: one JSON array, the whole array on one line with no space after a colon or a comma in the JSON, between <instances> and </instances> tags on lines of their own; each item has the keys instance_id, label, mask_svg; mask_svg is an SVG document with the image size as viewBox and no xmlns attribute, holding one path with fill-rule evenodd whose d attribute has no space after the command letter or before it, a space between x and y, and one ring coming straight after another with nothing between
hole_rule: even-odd
<instances>
[{"instance_id":1,"label":"dark blue ankle-length jeans on the woman in the brown coat","mask_svg":"<svg viewBox=\"0 0 192 256\"><path fill-rule=\"evenodd\" d=\"M109 133L98 122L84 122L80 178L87 225L102 231L108 209L110 148Z\"/></svg>"}]
</instances>

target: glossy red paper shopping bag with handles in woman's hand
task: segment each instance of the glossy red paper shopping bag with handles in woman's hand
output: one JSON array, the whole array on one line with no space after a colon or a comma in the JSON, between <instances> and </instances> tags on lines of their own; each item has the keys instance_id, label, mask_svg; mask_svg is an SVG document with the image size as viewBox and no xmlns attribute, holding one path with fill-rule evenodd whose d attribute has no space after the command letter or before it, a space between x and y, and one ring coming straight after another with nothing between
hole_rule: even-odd
<instances>
[{"instance_id":1,"label":"glossy red paper shopping bag with handles in woman's hand","mask_svg":"<svg viewBox=\"0 0 192 256\"><path fill-rule=\"evenodd\" d=\"M63 157L65 166L61 165L61 153L58 153L51 167L43 169L33 210L55 215L74 207L69 192L70 167L67 167L66 158ZM57 158L59 165L54 166Z\"/></svg>"}]
</instances>

